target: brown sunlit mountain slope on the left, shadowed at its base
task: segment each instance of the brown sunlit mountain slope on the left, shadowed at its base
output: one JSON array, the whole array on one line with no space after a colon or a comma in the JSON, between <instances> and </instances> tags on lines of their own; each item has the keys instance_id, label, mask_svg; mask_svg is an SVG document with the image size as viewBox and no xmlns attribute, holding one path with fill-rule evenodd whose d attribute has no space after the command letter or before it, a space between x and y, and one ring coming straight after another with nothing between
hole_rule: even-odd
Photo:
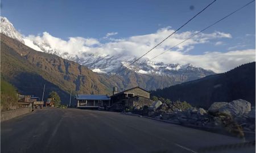
<instances>
[{"instance_id":1,"label":"brown sunlit mountain slope on the left, shadowed at its base","mask_svg":"<svg viewBox=\"0 0 256 153\"><path fill-rule=\"evenodd\" d=\"M59 92L64 103L73 94L110 94L96 73L53 54L37 52L1 33L1 75L28 95L41 96L43 84ZM72 99L74 101L74 99Z\"/></svg>"}]
</instances>

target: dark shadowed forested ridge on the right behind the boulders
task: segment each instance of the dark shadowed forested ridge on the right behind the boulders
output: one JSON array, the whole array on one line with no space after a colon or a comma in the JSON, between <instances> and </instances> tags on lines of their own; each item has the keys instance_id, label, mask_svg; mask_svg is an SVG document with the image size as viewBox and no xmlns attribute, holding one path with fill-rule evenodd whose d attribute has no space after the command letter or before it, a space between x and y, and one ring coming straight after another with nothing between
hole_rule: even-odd
<instances>
[{"instance_id":1,"label":"dark shadowed forested ridge on the right behind the boulders","mask_svg":"<svg viewBox=\"0 0 256 153\"><path fill-rule=\"evenodd\" d=\"M226 73L158 89L152 94L172 101L187 101L193 106L207 109L213 102L237 99L255 105L255 62L243 64Z\"/></svg>"}]
</instances>

